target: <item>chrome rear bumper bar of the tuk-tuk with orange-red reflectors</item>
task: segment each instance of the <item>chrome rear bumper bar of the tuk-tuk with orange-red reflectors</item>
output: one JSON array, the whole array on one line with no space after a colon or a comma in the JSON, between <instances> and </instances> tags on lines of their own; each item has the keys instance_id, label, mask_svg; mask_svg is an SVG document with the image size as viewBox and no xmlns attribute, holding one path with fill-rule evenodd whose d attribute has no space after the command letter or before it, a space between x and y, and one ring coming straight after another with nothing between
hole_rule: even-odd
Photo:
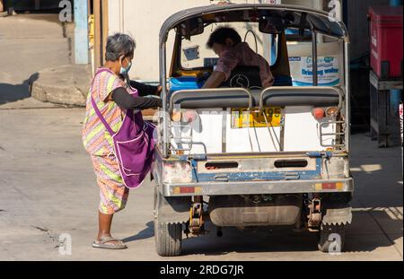
<instances>
[{"instance_id":1,"label":"chrome rear bumper bar of the tuk-tuk with orange-red reflectors","mask_svg":"<svg viewBox=\"0 0 404 279\"><path fill-rule=\"evenodd\" d=\"M338 183L338 188L324 188L323 183ZM312 179L276 181L232 181L164 183L163 196L223 196L293 193L344 193L354 191L354 179Z\"/></svg>"}]
</instances>

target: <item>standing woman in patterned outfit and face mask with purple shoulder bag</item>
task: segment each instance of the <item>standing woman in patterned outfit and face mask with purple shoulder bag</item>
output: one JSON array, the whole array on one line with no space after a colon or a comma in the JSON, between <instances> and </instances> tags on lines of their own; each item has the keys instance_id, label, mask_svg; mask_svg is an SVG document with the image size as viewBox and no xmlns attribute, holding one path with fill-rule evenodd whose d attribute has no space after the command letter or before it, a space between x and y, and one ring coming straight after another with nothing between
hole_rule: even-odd
<instances>
[{"instance_id":1,"label":"standing woman in patterned outfit and face mask with purple shoulder bag","mask_svg":"<svg viewBox=\"0 0 404 279\"><path fill-rule=\"evenodd\" d=\"M150 98L158 94L161 87L128 79L135 48L135 40L126 34L108 38L106 63L97 70L87 98L83 145L91 154L101 197L94 248L127 248L110 234L112 216L125 207L128 187L141 183L153 160L153 127L143 122L140 110L162 106L159 98ZM119 137L122 142L122 133L127 136L127 141L123 142L131 144L120 149L122 146L116 139ZM125 163L132 165L129 168ZM134 163L133 168L138 169L136 174L127 174Z\"/></svg>"}]
</instances>

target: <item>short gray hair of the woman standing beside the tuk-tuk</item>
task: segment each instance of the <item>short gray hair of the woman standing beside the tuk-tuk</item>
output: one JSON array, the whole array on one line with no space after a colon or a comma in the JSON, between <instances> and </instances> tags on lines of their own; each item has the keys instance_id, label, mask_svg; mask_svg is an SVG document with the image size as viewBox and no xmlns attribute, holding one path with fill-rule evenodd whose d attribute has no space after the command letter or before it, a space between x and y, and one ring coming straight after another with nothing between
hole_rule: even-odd
<instances>
[{"instance_id":1,"label":"short gray hair of the woman standing beside the tuk-tuk","mask_svg":"<svg viewBox=\"0 0 404 279\"><path fill-rule=\"evenodd\" d=\"M105 60L117 61L119 57L133 56L136 48L135 39L127 34L115 33L108 37L107 47L105 50Z\"/></svg>"}]
</instances>

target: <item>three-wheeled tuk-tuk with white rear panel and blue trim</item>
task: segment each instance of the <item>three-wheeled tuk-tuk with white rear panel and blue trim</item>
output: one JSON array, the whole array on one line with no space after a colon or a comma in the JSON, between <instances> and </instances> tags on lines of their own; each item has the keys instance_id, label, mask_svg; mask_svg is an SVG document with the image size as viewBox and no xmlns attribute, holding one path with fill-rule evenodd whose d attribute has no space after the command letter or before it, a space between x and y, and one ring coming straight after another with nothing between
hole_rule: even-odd
<instances>
[{"instance_id":1,"label":"three-wheeled tuk-tuk with white rear panel and blue trim","mask_svg":"<svg viewBox=\"0 0 404 279\"><path fill-rule=\"evenodd\" d=\"M275 83L262 88L254 67L238 65L229 80L201 89L217 57L206 34L227 24L245 31L271 60ZM288 41L311 47L294 83ZM321 83L338 45L340 78ZM160 31L159 111L154 168L157 253L179 256L183 236L217 228L287 226L318 234L318 248L340 252L351 223L348 34L328 13L284 4L224 4L171 15ZM252 46L253 48L254 46ZM169 60L170 59L170 60ZM170 65L169 67L167 66Z\"/></svg>"}]
</instances>

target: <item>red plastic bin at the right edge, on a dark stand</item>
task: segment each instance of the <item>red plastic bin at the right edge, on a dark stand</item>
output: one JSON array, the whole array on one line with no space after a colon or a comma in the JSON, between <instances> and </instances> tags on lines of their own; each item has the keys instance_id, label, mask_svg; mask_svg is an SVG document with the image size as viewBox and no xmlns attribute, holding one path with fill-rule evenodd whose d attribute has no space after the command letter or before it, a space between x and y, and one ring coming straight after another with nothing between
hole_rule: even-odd
<instances>
[{"instance_id":1,"label":"red plastic bin at the right edge, on a dark stand","mask_svg":"<svg viewBox=\"0 0 404 279\"><path fill-rule=\"evenodd\" d=\"M369 8L373 72L381 78L402 76L402 6Z\"/></svg>"}]
</instances>

